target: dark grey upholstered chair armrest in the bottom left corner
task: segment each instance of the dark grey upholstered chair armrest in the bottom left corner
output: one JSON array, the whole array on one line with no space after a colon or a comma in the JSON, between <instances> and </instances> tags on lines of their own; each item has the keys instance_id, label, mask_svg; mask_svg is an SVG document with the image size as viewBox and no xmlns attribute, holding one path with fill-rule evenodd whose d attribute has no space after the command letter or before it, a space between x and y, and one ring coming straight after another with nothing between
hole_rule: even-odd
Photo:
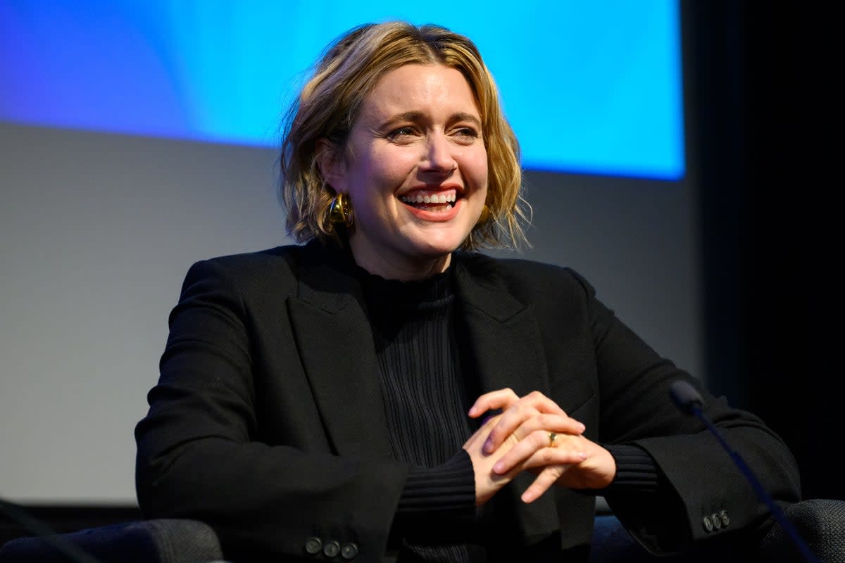
<instances>
[{"instance_id":1,"label":"dark grey upholstered chair armrest in the bottom left corner","mask_svg":"<svg viewBox=\"0 0 845 563\"><path fill-rule=\"evenodd\" d=\"M197 520L161 518L123 522L53 536L92 555L101 563L199 563L222 561L217 534ZM0 563L68 562L43 538L8 541L0 547Z\"/></svg>"}]
</instances>

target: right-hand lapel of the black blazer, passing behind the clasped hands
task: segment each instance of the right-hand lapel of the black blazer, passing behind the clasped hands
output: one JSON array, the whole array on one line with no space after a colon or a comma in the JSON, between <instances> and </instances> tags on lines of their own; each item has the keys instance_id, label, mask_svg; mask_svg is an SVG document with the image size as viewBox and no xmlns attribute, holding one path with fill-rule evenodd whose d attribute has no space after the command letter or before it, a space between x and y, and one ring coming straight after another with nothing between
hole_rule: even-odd
<instances>
[{"instance_id":1,"label":"right-hand lapel of the black blazer, passing behind the clasped hands","mask_svg":"<svg viewBox=\"0 0 845 563\"><path fill-rule=\"evenodd\" d=\"M456 255L460 256L460 255ZM455 285L466 323L469 349L482 392L510 387L518 396L540 391L549 395L548 365L537 318L529 306L504 289L495 263L485 257L455 260ZM510 496L526 544L560 528L554 496L542 495L526 505L520 495L535 476L521 474L499 495Z\"/></svg>"}]
</instances>

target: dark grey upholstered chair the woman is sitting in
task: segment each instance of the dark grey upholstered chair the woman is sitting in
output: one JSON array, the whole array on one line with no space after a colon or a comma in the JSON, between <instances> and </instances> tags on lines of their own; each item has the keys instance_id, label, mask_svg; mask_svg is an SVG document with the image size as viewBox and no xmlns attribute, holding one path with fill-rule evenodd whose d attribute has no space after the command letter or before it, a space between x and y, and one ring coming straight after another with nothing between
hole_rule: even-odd
<instances>
[{"instance_id":1,"label":"dark grey upholstered chair the woman is sitting in","mask_svg":"<svg viewBox=\"0 0 845 563\"><path fill-rule=\"evenodd\" d=\"M845 501L810 499L784 511L810 550L822 563L845 562ZM93 559L74 558L57 548L71 546ZM591 545L591 563L686 563L719 560L720 563L749 563L748 554L729 545L717 552L658 557L649 554L612 514L596 517ZM759 561L799 563L804 561L788 533L774 524L760 543ZM214 531L203 522L187 519L157 519L89 528L44 538L13 539L0 547L0 563L225 563Z\"/></svg>"}]
</instances>

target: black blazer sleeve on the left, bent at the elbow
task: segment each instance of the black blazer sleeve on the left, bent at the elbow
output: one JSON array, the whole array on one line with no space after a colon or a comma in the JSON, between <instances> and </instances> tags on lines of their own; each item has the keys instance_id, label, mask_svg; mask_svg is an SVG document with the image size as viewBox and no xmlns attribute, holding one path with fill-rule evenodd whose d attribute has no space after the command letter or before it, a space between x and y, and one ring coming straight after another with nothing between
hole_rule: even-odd
<instances>
[{"instance_id":1,"label":"black blazer sleeve on the left, bent at the elbow","mask_svg":"<svg viewBox=\"0 0 845 563\"><path fill-rule=\"evenodd\" d=\"M135 429L144 517L207 522L226 557L236 560L288 560L315 549L329 549L326 555L341 549L345 560L381 560L406 465L340 457L319 441L305 447L303 436L319 433L319 420L304 428L296 414L275 419L292 422L275 428L274 440L259 435L266 431L254 385L259 340L295 345L284 331L256 333L252 295L231 266L194 264L170 316L160 378ZM284 290L277 288L276 298L282 324ZM274 376L296 379L296 368L278 365Z\"/></svg>"}]
</instances>

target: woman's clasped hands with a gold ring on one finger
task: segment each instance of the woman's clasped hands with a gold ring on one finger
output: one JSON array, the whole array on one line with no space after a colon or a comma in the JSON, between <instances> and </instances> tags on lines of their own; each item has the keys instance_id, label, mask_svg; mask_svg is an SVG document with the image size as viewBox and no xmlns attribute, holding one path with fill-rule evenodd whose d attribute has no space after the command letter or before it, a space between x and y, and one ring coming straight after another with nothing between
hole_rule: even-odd
<instances>
[{"instance_id":1,"label":"woman's clasped hands with a gold ring on one finger","mask_svg":"<svg viewBox=\"0 0 845 563\"><path fill-rule=\"evenodd\" d=\"M613 456L584 437L584 425L541 392L525 397L510 389L488 392L472 405L469 416L477 419L494 409L501 409L501 414L486 420L463 446L475 471L477 506L523 471L537 475L523 491L523 502L537 500L552 485L571 489L610 485L616 474Z\"/></svg>"}]
</instances>

